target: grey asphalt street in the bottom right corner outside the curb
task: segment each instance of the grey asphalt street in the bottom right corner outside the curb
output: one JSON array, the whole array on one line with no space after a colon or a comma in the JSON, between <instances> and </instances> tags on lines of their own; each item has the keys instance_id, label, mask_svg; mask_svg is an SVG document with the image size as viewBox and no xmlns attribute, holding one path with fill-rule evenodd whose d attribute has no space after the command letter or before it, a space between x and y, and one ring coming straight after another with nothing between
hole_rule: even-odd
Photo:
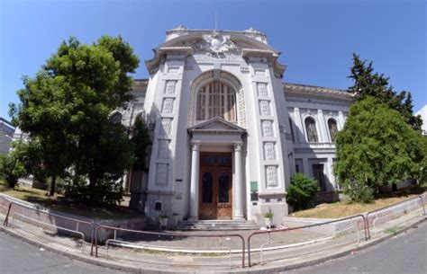
<instances>
[{"instance_id":1,"label":"grey asphalt street in the bottom right corner outside the curb","mask_svg":"<svg viewBox=\"0 0 427 274\"><path fill-rule=\"evenodd\" d=\"M425 274L427 273L427 222L355 254L284 273Z\"/></svg>"}]
</instances>

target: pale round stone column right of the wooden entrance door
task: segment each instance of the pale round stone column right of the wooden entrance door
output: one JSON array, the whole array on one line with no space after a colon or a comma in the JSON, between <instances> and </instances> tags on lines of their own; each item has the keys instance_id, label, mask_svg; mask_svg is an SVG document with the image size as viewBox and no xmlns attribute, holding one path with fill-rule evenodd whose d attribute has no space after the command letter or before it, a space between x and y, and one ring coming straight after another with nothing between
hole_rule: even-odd
<instances>
[{"instance_id":1,"label":"pale round stone column right of the wooden entrance door","mask_svg":"<svg viewBox=\"0 0 427 274\"><path fill-rule=\"evenodd\" d=\"M242 167L241 167L241 146L242 143L234 143L234 171L235 174L235 180L234 187L236 188L236 193L234 200L235 200L235 208L234 208L234 219L244 219L243 214L243 201L244 201L244 194L243 194L243 181L242 181Z\"/></svg>"}]
</instances>

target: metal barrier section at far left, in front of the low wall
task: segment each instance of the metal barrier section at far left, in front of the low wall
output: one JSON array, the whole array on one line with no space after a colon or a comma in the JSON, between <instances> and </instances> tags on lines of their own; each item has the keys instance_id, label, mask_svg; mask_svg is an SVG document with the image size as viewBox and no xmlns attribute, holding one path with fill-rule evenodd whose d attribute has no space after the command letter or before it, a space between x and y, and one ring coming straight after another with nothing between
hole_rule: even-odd
<instances>
[{"instance_id":1,"label":"metal barrier section at far left, in front of the low wall","mask_svg":"<svg viewBox=\"0 0 427 274\"><path fill-rule=\"evenodd\" d=\"M44 214L44 215L46 215L48 217L56 217L56 218L59 218L59 219L62 219L62 220L68 220L68 221L71 221L71 222L76 222L76 229L73 230L73 229L69 229L69 228L66 228L66 227L61 227L59 225L52 225L52 224L49 224L49 223L46 223L46 222L41 222L39 220L36 220L37 222L43 223L44 225L49 225L51 227L56 227L59 230L64 230L64 231L68 231L68 232L75 233L75 234L83 234L83 232L79 231L80 225L88 225L89 228L90 228L90 231L91 231L91 235L90 235L90 243L91 243L90 255L91 256L93 255L93 250L94 250L94 234L95 234L95 225L94 224L92 224L90 222L87 222L87 221L79 220L77 218L65 217L65 216L61 216L61 215L55 214L55 213L46 212L45 210L41 210L41 209L38 209L38 208L32 208L30 206L27 206L27 205L15 202L14 200L10 200L10 199L6 199L6 200L9 201L9 206L7 207L5 222L3 223L3 225L5 225L5 226L9 225L9 217L11 216L11 212L12 212L13 215L14 214L18 214L18 213L14 213L13 212L13 208L14 207L26 208L26 209L30 209L30 210L32 210L34 212ZM22 214L19 214L19 215L21 217L23 217ZM31 218L31 217L27 217L27 218ZM83 234L83 238L84 237L85 237L85 234Z\"/></svg>"}]
</instances>

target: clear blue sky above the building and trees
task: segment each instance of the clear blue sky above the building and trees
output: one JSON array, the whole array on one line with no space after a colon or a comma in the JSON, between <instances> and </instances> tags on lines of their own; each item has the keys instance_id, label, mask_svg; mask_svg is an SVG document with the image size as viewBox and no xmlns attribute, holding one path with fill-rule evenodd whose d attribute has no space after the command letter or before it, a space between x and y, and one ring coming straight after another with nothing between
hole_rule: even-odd
<instances>
[{"instance_id":1,"label":"clear blue sky above the building and trees","mask_svg":"<svg viewBox=\"0 0 427 274\"><path fill-rule=\"evenodd\" d=\"M352 52L372 60L396 90L413 93L414 110L427 103L426 2L423 0L318 1L60 1L0 0L0 116L17 102L22 75L33 76L75 36L86 43L122 35L143 60L165 31L187 28L246 30L268 35L288 65L284 82L345 89Z\"/></svg>"}]
</instances>

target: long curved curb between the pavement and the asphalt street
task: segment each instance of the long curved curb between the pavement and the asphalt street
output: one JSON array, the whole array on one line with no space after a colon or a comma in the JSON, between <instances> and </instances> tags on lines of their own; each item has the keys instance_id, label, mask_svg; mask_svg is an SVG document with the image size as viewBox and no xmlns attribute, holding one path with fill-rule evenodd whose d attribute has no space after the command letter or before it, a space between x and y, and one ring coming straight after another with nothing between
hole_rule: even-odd
<instances>
[{"instance_id":1,"label":"long curved curb between the pavement and the asphalt street","mask_svg":"<svg viewBox=\"0 0 427 274\"><path fill-rule=\"evenodd\" d=\"M404 232L406 232L407 230L413 228L414 226L420 225L422 222L426 221L427 217L422 217L420 220L414 222L411 225L405 226L400 228L399 230L397 230L395 233L393 234L388 234L386 236L377 238L375 240L372 240L368 243L362 243L360 246L357 247L357 250L364 250L367 249L368 247L371 247L373 245L376 245L377 243L382 243L385 242L386 240L394 237L396 234L402 234ZM136 268L136 267L132 267L132 266L125 266L122 263L114 263L111 261L104 261L103 259L96 259L95 257L87 257L85 255L80 255L80 254L74 254L74 253L70 253L70 252L66 252L63 250L60 250L58 248L55 247L51 247L50 245L46 244L46 243L41 243L37 240L28 238L23 236L22 234L17 234L13 231L13 229L7 228L3 225L0 225L0 231L5 232L5 234L10 234L16 238L19 238L21 240L23 240L24 242L27 243L31 243L32 245L35 245L37 247L42 247L45 250L48 250L50 252L56 252L60 255L64 255L67 256L68 258L71 258L73 260L77 260L77 261L84 261L86 263L90 263L90 264L94 264L97 266L101 266L101 267L105 267L105 268L109 268L109 269L113 269L113 270L122 270L122 271L126 271L126 272L132 272L132 273L188 273L188 272L199 272L198 270L178 270L177 268L174 268L174 270L156 270L156 269L141 269L141 268ZM340 257L344 257L346 255L350 255L352 250L354 250L354 248L350 248L349 250L345 250L345 251L341 251L341 252L335 252L332 253L330 255L324 256L322 258L317 258L317 259L313 259L310 261L304 261L304 262L296 262L293 264L289 264L289 265L282 265L282 266L278 266L278 267L269 267L269 268L263 268L263 269L259 269L259 270L254 270L254 269L250 269L248 267L246 267L245 269L240 269L240 270L234 270L234 271L227 271L227 270L212 270L212 271L208 271L208 272L204 272L204 273L209 273L209 272L213 272L213 273L251 273L251 274L267 274L267 273L271 273L271 272L278 272L278 271L285 271L285 270L295 270L295 269L299 269L299 268L304 268L304 267L308 267L308 266L313 266L315 264L324 262L324 261L331 261L333 259L337 259Z\"/></svg>"}]
</instances>

